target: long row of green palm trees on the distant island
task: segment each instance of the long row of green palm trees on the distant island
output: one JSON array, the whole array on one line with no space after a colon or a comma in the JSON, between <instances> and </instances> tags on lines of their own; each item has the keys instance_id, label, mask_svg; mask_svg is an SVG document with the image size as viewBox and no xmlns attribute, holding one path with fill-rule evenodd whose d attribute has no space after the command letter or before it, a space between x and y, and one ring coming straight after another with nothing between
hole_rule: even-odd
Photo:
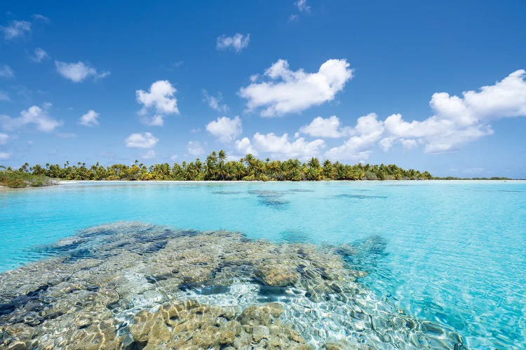
<instances>
[{"instance_id":1,"label":"long row of green palm trees on the distant island","mask_svg":"<svg viewBox=\"0 0 526 350\"><path fill-rule=\"evenodd\" d=\"M428 180L429 172L405 170L396 165L344 165L340 162L317 158L308 162L297 159L285 161L259 160L248 154L240 160L227 160L224 151L213 152L204 161L182 162L147 167L135 160L133 165L115 164L104 167L98 162L86 167L85 163L63 166L46 164L29 167L26 163L18 172L34 176L48 176L62 180L209 180L209 181L320 181L320 180Z\"/></svg>"}]
</instances>

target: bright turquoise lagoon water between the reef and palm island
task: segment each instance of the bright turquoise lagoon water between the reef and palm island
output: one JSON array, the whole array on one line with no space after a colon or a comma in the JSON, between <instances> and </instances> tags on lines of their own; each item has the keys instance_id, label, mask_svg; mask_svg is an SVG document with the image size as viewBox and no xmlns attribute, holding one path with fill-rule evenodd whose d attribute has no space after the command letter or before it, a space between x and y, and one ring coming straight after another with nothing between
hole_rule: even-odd
<instances>
[{"instance_id":1,"label":"bright turquoise lagoon water between the reef and palm island","mask_svg":"<svg viewBox=\"0 0 526 350\"><path fill-rule=\"evenodd\" d=\"M361 280L475 349L526 346L526 182L63 183L0 192L0 271L115 221L341 244L380 235Z\"/></svg>"}]
</instances>

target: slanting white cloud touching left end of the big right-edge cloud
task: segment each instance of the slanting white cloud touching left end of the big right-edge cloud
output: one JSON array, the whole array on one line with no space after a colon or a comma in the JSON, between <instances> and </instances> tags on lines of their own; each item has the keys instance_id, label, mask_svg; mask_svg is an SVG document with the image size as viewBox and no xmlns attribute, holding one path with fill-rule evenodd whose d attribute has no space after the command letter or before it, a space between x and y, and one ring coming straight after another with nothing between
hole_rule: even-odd
<instances>
[{"instance_id":1,"label":"slanting white cloud touching left end of the big right-edge cloud","mask_svg":"<svg viewBox=\"0 0 526 350\"><path fill-rule=\"evenodd\" d=\"M349 129L351 136L342 146L330 148L325 157L332 160L366 160L384 133L382 121L375 113L358 118L356 126Z\"/></svg>"}]
</instances>

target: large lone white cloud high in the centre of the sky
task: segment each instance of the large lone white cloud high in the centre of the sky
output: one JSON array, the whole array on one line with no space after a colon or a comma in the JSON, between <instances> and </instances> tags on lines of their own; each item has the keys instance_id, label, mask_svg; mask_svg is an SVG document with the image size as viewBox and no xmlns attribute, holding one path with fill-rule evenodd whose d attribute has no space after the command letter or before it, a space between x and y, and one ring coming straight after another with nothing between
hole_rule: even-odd
<instances>
[{"instance_id":1,"label":"large lone white cloud high in the centre of the sky","mask_svg":"<svg viewBox=\"0 0 526 350\"><path fill-rule=\"evenodd\" d=\"M353 73L345 59L329 59L316 73L291 71L288 62L279 59L264 76L267 81L252 82L242 87L239 94L248 100L248 111L262 107L262 116L273 117L331 101Z\"/></svg>"}]
</instances>

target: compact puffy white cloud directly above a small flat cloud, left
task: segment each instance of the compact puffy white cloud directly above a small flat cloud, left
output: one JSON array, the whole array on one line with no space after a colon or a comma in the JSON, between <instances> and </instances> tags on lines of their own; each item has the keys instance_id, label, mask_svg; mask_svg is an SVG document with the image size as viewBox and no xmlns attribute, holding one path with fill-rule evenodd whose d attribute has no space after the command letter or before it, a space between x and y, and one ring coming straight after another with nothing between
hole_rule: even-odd
<instances>
[{"instance_id":1,"label":"compact puffy white cloud directly above a small flat cloud, left","mask_svg":"<svg viewBox=\"0 0 526 350\"><path fill-rule=\"evenodd\" d=\"M179 114L177 98L174 97L175 92L177 90L168 80L157 80L151 84L149 91L135 91L137 103L142 104L139 112L142 116L142 123L163 126L166 115ZM154 111L156 114L147 116L149 111Z\"/></svg>"}]
</instances>

